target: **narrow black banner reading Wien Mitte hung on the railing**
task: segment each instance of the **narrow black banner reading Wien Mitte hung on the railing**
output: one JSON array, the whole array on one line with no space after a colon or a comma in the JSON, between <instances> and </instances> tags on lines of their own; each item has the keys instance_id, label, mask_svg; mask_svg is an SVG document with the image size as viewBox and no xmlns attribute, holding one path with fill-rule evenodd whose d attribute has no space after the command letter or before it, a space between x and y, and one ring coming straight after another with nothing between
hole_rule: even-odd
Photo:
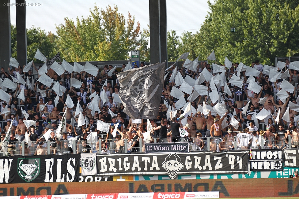
<instances>
[{"instance_id":1,"label":"narrow black banner reading Wien Mitte hung on the railing","mask_svg":"<svg viewBox=\"0 0 299 199\"><path fill-rule=\"evenodd\" d=\"M146 153L187 153L188 142L145 143Z\"/></svg>"}]
</instances>

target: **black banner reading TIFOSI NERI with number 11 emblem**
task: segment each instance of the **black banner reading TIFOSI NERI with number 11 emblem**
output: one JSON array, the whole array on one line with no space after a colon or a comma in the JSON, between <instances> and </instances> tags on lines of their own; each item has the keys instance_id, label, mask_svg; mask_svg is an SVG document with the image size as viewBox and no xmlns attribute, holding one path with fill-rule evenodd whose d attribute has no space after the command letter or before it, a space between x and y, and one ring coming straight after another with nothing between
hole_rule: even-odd
<instances>
[{"instance_id":1,"label":"black banner reading TIFOSI NERI with number 11 emblem","mask_svg":"<svg viewBox=\"0 0 299 199\"><path fill-rule=\"evenodd\" d=\"M282 170L282 149L252 150L249 158L250 171Z\"/></svg>"}]
</instances>

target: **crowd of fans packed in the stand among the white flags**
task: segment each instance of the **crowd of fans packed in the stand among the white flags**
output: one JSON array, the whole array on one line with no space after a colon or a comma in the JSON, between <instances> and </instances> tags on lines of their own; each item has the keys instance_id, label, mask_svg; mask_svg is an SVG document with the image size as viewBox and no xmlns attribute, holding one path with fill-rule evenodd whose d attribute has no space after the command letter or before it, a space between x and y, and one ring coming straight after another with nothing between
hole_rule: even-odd
<instances>
[{"instance_id":1,"label":"crowd of fans packed in the stand among the white flags","mask_svg":"<svg viewBox=\"0 0 299 199\"><path fill-rule=\"evenodd\" d=\"M112 76L108 76L107 72L112 70L112 65L104 65L104 69L101 70L97 76L92 76L87 72L65 72L61 76L58 76L52 69L48 69L46 73L54 82L59 82L60 85L66 88L66 91L59 96L58 104L54 104L57 94L51 87L47 87L38 82L32 71L23 72L22 67L9 69L9 73L5 72L4 68L1 68L0 78L2 81L6 78L16 78L16 73L19 73L25 80L34 81L34 90L29 89L28 85L22 85L17 83L16 90L7 89L7 93L11 95L9 101L1 101L2 109L11 111L9 114L1 113L1 142L0 152L4 153L4 148L8 149L8 154L16 155L21 154L22 141L26 141L25 135L28 133L28 141L24 146L25 155L39 155L47 154L47 142L44 138L44 134L51 129L50 140L50 153L64 154L64 153L94 153L99 152L103 154L111 152L144 152L146 142L189 142L189 149L191 151L211 150L211 151L227 151L227 150L247 150L247 149L260 149L263 145L266 148L298 148L298 123L294 120L298 115L296 110L290 109L290 121L282 120L282 115L286 112L288 102L291 101L297 104L297 89L299 75L297 70L289 69L289 60L286 59L285 66L278 68L282 73L288 71L290 76L286 78L294 87L294 92L289 93L289 97L286 99L286 103L274 96L280 90L280 84L283 79L277 79L274 82L269 81L269 76L263 74L263 65L258 60L252 62L248 67L255 68L260 71L259 76L255 76L255 82L258 83L262 89L259 93L255 93L249 90L247 82L248 76L245 76L245 71L240 72L240 79L244 80L242 87L237 87L229 83L230 78L237 74L238 63L232 64L232 66L226 66L225 77L227 80L227 86L231 90L232 95L227 94L224 90L224 85L216 86L218 93L221 94L224 99L225 109L227 113L221 117L215 112L208 112L204 115L202 106L205 104L208 107L213 108L216 103L213 103L209 95L202 95L199 93L195 100L190 101L191 105L197 110L194 113L186 114L187 122L184 123L183 110L176 107L176 102L179 100L171 95L173 87L180 88L175 83L175 80L170 81L172 72L176 72L176 66L172 66L165 74L164 88L162 90L161 104L159 112L155 120L132 120L129 116L123 112L124 105L115 102L114 98L120 90L117 74L122 72L126 67L123 64L121 70L115 70ZM143 67L144 63L141 62L140 67ZM134 67L137 67L135 65ZM33 68L38 71L35 64ZM41 68L41 66L39 66ZM213 77L217 74L213 73L213 69L210 64L201 62L198 64L195 71L192 69L185 69L184 63L182 66L177 66L180 70L178 73L185 79L187 76L196 80L199 78L203 70L208 70ZM13 78L12 78L13 77ZM39 77L39 76L38 76ZM71 78L75 78L82 82L81 88L74 88L71 85ZM104 85L107 80L107 85ZM210 82L204 81L200 85L208 87L208 92L212 92L212 85ZM191 85L194 86L194 85ZM25 88L25 101L18 99L16 96L21 89ZM40 90L46 90L45 95ZM88 107L92 99L89 98L96 92L97 95L101 95L102 92L106 93L109 101L103 103L101 100L99 103L100 112L94 112ZM193 91L192 91L193 92ZM67 108L65 101L66 95L69 94L73 100L74 107ZM184 92L184 98L187 102L190 94ZM258 98L267 97L267 101L264 104L259 104ZM79 101L80 108L83 110L82 114L86 120L86 125L78 126L78 115L74 115L76 112L76 104ZM246 112L242 112L242 108L250 103ZM181 107L180 107L181 108ZM277 111L280 109L279 122L274 119L277 117ZM28 113L27 120L35 120L36 126L26 127L23 120L25 116L22 113L22 109ZM111 111L110 111L110 110ZM266 109L271 114L263 120L253 120L252 116ZM62 135L56 134L56 129L61 122L63 113L66 110L66 132ZM176 113L176 114L174 114ZM231 119L234 117L238 121L238 125L231 125ZM75 121L72 123L71 119ZM97 130L97 120L105 123L110 123L110 131L108 133ZM10 138L8 145L5 146L5 136L8 128L13 121ZM116 127L115 124L119 123ZM184 123L184 124L183 124ZM113 130L117 128L117 135L112 135ZM150 129L151 130L150 130ZM150 131L150 136L144 138L147 131ZM90 132L97 132L97 140L93 144L88 144L87 137ZM291 143L289 143L289 135L291 137ZM263 136L263 138L261 137ZM75 144L72 144L68 140L76 137ZM141 142L139 140L142 140ZM100 142L99 142L100 141ZM30 144L28 144L30 142ZM99 144L101 143L101 145ZM290 145L289 145L290 144ZM126 146L126 147L125 147ZM237 148L236 148L237 147ZM103 149L103 150L102 150ZM101 151L101 152L100 152ZM6 154L7 155L7 154Z\"/></svg>"}]
</instances>

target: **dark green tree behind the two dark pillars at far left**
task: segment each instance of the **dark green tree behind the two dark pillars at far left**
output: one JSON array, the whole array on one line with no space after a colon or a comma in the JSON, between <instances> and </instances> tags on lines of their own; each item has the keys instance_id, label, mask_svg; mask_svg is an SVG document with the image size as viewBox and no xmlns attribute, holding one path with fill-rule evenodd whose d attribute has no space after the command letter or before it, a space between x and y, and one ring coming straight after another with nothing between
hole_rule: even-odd
<instances>
[{"instance_id":1,"label":"dark green tree behind the two dark pillars at far left","mask_svg":"<svg viewBox=\"0 0 299 199\"><path fill-rule=\"evenodd\" d=\"M17 28L14 25L11 25L10 28L11 56L17 58ZM54 43L51 42L49 35L47 35L44 30L32 27L27 29L27 62L33 60L37 49L39 49L40 52L48 58L51 56L53 57L58 52L58 50L54 47Z\"/></svg>"}]
</instances>

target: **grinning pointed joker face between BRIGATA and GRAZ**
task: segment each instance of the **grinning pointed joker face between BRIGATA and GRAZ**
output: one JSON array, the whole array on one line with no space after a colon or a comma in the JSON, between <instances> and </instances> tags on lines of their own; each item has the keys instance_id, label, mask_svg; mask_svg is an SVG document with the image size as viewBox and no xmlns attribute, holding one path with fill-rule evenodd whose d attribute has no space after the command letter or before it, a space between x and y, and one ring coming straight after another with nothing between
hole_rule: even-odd
<instances>
[{"instance_id":1,"label":"grinning pointed joker face between BRIGATA and GRAZ","mask_svg":"<svg viewBox=\"0 0 299 199\"><path fill-rule=\"evenodd\" d=\"M184 168L184 164L178 155L170 153L162 163L162 167L167 171L169 178L173 180L176 178L178 172Z\"/></svg>"}]
</instances>

